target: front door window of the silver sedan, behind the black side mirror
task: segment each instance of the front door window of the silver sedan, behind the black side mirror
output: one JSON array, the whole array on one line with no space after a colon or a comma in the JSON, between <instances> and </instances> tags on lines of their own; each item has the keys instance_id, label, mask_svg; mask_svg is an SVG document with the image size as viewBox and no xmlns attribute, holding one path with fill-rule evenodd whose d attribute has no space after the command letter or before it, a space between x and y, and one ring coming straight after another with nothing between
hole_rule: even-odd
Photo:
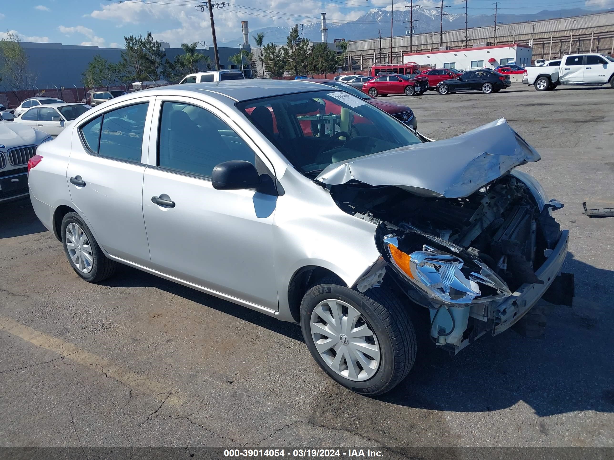
<instances>
[{"instance_id":1,"label":"front door window of the silver sedan, behind the black side mirror","mask_svg":"<svg viewBox=\"0 0 614 460\"><path fill-rule=\"evenodd\" d=\"M254 151L235 131L208 110L164 102L158 133L158 166L211 177L223 161L242 159L255 165Z\"/></svg>"}]
</instances>

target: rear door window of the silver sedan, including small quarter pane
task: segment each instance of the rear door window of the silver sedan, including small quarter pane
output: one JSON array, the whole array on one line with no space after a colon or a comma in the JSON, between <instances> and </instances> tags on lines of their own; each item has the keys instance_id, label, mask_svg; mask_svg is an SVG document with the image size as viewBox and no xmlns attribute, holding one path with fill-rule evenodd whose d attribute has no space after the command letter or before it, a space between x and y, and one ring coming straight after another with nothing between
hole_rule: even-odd
<instances>
[{"instance_id":1,"label":"rear door window of the silver sedan, including small quarter pane","mask_svg":"<svg viewBox=\"0 0 614 460\"><path fill-rule=\"evenodd\" d=\"M148 102L106 112L81 126L85 144L92 153L141 163L143 132Z\"/></svg>"}]
</instances>

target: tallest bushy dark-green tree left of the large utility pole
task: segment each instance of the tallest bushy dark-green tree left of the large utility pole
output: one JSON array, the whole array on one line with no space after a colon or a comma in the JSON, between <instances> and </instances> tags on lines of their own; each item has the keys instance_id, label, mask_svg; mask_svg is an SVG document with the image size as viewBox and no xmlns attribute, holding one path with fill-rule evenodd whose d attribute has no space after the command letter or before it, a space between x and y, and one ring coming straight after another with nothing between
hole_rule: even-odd
<instances>
[{"instance_id":1,"label":"tallest bushy dark-green tree left of the large utility pole","mask_svg":"<svg viewBox=\"0 0 614 460\"><path fill-rule=\"evenodd\" d=\"M168 73L165 68L168 61L165 60L166 53L150 32L145 37L130 34L123 38L126 50L122 52L122 64L126 80L160 80Z\"/></svg>"}]
</instances>

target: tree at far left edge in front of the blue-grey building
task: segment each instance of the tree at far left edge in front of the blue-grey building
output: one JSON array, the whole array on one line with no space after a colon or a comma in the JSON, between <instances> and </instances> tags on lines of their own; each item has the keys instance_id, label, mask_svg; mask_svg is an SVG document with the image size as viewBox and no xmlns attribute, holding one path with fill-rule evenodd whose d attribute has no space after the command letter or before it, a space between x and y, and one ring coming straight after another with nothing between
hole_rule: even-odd
<instances>
[{"instance_id":1,"label":"tree at far left edge in front of the blue-grey building","mask_svg":"<svg viewBox=\"0 0 614 460\"><path fill-rule=\"evenodd\" d=\"M17 34L7 31L0 40L0 75L6 86L28 90L36 83L36 74L28 70L28 56Z\"/></svg>"}]
</instances>

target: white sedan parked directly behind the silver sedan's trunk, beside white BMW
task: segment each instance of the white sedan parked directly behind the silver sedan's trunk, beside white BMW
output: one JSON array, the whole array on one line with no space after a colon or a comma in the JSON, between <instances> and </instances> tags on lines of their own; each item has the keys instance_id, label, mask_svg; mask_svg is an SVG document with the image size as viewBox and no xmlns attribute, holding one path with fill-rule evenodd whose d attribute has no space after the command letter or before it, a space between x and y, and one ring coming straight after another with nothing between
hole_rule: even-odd
<instances>
[{"instance_id":1,"label":"white sedan parked directly behind the silver sedan's trunk, beside white BMW","mask_svg":"<svg viewBox=\"0 0 614 460\"><path fill-rule=\"evenodd\" d=\"M15 118L17 123L32 126L55 137L82 113L91 109L91 105L81 102L62 102L61 104L38 105L21 113Z\"/></svg>"}]
</instances>

